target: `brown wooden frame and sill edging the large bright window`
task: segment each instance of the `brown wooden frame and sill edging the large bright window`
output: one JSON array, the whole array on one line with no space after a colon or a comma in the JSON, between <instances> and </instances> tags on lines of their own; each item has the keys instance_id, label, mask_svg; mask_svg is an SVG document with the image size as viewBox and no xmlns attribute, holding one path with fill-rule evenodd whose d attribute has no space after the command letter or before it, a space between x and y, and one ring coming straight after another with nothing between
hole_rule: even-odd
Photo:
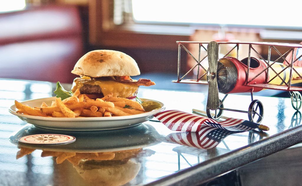
<instances>
[{"instance_id":1,"label":"brown wooden frame and sill edging the large bright window","mask_svg":"<svg viewBox=\"0 0 302 186\"><path fill-rule=\"evenodd\" d=\"M176 50L176 41L189 41L195 30L211 30L217 32L221 29L215 25L165 25L165 24L144 24L144 23L124 23L114 24L112 0L89 0L89 42L94 46L123 47L123 48L144 48L144 49L167 49ZM267 29L252 27L228 27L228 31L246 32L247 29L260 35L260 41L300 43L302 32L290 29ZM164 31L163 31L164 30ZM280 32L280 38L261 37L262 31ZM289 39L281 38L283 32L294 31L301 34L301 38Z\"/></svg>"}]
</instances>

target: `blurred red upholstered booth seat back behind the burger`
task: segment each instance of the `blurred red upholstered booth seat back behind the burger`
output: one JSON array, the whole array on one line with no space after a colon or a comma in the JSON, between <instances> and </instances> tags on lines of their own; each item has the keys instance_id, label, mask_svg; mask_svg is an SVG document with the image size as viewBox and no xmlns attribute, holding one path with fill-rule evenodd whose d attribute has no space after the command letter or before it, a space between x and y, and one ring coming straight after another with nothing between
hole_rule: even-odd
<instances>
[{"instance_id":1,"label":"blurred red upholstered booth seat back behind the burger","mask_svg":"<svg viewBox=\"0 0 302 186\"><path fill-rule=\"evenodd\" d=\"M83 55L82 24L73 6L0 14L0 78L72 82Z\"/></svg>"}]
</instances>

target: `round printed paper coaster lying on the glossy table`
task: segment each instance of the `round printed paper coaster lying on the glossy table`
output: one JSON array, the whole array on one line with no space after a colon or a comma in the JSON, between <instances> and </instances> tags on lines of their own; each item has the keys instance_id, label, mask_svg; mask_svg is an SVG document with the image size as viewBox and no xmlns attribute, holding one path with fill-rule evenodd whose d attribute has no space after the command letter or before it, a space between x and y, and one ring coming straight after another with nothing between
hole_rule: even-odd
<instances>
[{"instance_id":1,"label":"round printed paper coaster lying on the glossy table","mask_svg":"<svg viewBox=\"0 0 302 186\"><path fill-rule=\"evenodd\" d=\"M39 145L54 145L62 143L70 143L76 141L76 137L63 134L35 134L23 136L19 139L21 143L39 144Z\"/></svg>"}]
</instances>

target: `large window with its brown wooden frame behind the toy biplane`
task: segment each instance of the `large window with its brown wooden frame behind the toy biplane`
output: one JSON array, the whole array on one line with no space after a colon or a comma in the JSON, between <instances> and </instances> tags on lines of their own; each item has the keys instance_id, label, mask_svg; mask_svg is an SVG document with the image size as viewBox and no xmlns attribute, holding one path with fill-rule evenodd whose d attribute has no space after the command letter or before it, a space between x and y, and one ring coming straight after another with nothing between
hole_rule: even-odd
<instances>
[{"instance_id":1,"label":"large window with its brown wooden frame behind the toy biplane","mask_svg":"<svg viewBox=\"0 0 302 186\"><path fill-rule=\"evenodd\" d=\"M196 32L213 40L223 28L252 33L242 41L300 43L301 6L301 0L90 0L89 38L94 45L170 50L175 41L196 40Z\"/></svg>"}]
</instances>

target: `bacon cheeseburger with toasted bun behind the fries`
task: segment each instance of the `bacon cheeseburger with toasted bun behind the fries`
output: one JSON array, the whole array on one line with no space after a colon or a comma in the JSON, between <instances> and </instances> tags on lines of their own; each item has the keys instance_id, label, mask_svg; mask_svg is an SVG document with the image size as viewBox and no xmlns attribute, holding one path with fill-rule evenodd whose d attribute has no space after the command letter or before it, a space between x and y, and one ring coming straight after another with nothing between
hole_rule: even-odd
<instances>
[{"instance_id":1,"label":"bacon cheeseburger with toasted bun behind the fries","mask_svg":"<svg viewBox=\"0 0 302 186\"><path fill-rule=\"evenodd\" d=\"M82 56L71 73L74 79L72 92L79 88L89 98L102 98L109 93L114 97L134 99L139 86L155 85L150 79L134 80L140 75L135 60L125 53L114 50L93 50Z\"/></svg>"}]
</instances>

